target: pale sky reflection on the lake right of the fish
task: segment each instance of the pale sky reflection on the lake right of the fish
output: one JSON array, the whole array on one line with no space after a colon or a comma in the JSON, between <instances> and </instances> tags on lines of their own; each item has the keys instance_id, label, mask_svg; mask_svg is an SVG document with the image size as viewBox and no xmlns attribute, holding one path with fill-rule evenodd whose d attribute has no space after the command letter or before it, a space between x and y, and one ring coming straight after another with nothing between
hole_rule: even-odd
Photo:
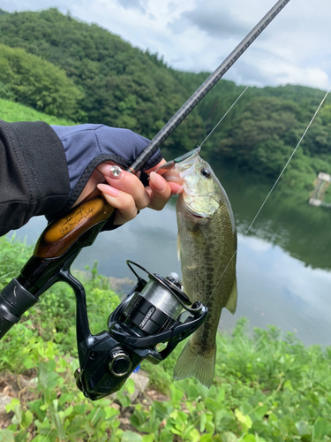
<instances>
[{"instance_id":1,"label":"pale sky reflection on the lake right of the fish","mask_svg":"<svg viewBox=\"0 0 331 442\"><path fill-rule=\"evenodd\" d=\"M330 345L331 273L306 267L265 240L240 236L236 316L248 316L258 327L275 324L297 331L306 344ZM228 312L222 320L225 327L235 322Z\"/></svg>"}]
</instances>

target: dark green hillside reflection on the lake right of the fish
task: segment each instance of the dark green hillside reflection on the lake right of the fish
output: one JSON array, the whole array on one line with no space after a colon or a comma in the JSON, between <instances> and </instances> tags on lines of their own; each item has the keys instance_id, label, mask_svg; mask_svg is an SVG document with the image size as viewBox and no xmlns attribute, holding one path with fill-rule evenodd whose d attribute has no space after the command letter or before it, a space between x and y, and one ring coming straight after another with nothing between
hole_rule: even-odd
<instances>
[{"instance_id":1,"label":"dark green hillside reflection on the lake right of the fish","mask_svg":"<svg viewBox=\"0 0 331 442\"><path fill-rule=\"evenodd\" d=\"M238 231L244 233L271 185L226 168L216 173L226 187ZM331 210L312 207L308 197L306 189L275 187L250 234L280 246L312 268L331 270Z\"/></svg>"}]
</instances>

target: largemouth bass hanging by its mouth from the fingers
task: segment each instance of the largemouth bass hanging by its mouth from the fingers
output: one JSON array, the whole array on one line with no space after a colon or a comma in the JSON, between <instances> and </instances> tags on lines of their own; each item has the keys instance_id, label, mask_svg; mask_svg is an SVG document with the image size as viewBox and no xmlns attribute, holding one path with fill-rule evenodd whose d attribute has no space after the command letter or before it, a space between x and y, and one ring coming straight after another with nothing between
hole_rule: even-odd
<instances>
[{"instance_id":1,"label":"largemouth bass hanging by its mouth from the fingers","mask_svg":"<svg viewBox=\"0 0 331 442\"><path fill-rule=\"evenodd\" d=\"M183 184L176 209L184 292L192 303L201 301L209 311L207 321L192 334L180 354L174 378L196 377L210 387L222 309L233 314L237 307L235 219L227 194L199 156L199 148L172 164L164 176Z\"/></svg>"}]
</instances>

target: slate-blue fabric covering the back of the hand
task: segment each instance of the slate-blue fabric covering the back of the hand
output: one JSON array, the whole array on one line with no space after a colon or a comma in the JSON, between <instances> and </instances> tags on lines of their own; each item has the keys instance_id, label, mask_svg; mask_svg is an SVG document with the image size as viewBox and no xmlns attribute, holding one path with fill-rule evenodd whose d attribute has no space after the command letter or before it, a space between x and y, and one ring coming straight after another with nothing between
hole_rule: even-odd
<instances>
[{"instance_id":1,"label":"slate-blue fabric covering the back of the hand","mask_svg":"<svg viewBox=\"0 0 331 442\"><path fill-rule=\"evenodd\" d=\"M81 194L98 164L114 161L127 168L148 144L147 138L128 129L104 125L51 126L64 145L68 164L71 194L65 210L69 210ZM158 150L144 170L162 160Z\"/></svg>"}]
</instances>

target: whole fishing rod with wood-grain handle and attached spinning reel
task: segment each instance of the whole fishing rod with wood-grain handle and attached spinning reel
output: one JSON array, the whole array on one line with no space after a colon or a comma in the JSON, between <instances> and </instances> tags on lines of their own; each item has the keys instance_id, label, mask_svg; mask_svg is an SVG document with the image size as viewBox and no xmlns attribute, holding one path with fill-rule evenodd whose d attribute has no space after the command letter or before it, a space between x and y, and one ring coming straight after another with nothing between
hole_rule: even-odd
<instances>
[{"instance_id":1,"label":"whole fishing rod with wood-grain handle and attached spinning reel","mask_svg":"<svg viewBox=\"0 0 331 442\"><path fill-rule=\"evenodd\" d=\"M146 164L169 134L289 2L279 0L267 12L222 65L154 136L129 171L136 173ZM127 263L137 277L137 284L110 314L108 331L92 335L84 286L71 275L71 263L82 248L93 244L103 225L114 216L114 208L99 195L81 202L64 217L52 221L41 233L34 255L27 261L19 277L13 278L0 293L2 339L50 286L57 281L64 281L71 286L77 306L79 369L75 372L75 378L79 389L91 400L117 392L142 360L147 359L155 364L162 362L179 342L190 336L207 318L207 307L201 302L191 305L176 278L163 278L129 261ZM148 281L139 277L132 269L132 264L147 272ZM184 316L181 313L183 309ZM167 343L160 352L156 349L159 343Z\"/></svg>"}]
</instances>

